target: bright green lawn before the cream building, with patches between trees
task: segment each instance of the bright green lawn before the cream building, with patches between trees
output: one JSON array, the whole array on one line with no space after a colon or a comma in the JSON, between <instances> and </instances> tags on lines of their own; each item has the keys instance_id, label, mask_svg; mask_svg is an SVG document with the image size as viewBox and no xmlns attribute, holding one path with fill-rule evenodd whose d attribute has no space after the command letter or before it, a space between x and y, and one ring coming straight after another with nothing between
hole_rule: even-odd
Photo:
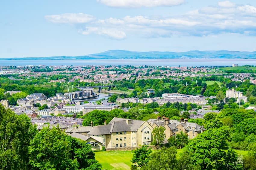
<instances>
[{"instance_id":1,"label":"bright green lawn before the cream building, with patches between trees","mask_svg":"<svg viewBox=\"0 0 256 170\"><path fill-rule=\"evenodd\" d=\"M177 149L177 158L180 158L180 154L183 149ZM153 150L154 152L154 150ZM239 155L245 156L248 150L236 150ZM130 169L133 157L132 151L105 151L95 152L95 159L102 165L102 169Z\"/></svg>"}]
</instances>

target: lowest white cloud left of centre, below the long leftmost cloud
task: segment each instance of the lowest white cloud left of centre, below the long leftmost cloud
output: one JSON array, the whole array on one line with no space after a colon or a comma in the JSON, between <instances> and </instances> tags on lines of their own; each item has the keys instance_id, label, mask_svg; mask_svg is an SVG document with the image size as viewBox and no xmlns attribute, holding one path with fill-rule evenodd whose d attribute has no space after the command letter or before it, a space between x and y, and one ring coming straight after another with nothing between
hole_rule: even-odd
<instances>
[{"instance_id":1,"label":"lowest white cloud left of centre, below the long leftmost cloud","mask_svg":"<svg viewBox=\"0 0 256 170\"><path fill-rule=\"evenodd\" d=\"M98 28L98 27L86 27L86 30L81 31L83 35L89 35L89 34L98 34L98 35L104 35L108 38L116 39L116 40L122 40L126 38L126 33L123 31L119 31L117 29L106 29L106 28Z\"/></svg>"}]
</instances>

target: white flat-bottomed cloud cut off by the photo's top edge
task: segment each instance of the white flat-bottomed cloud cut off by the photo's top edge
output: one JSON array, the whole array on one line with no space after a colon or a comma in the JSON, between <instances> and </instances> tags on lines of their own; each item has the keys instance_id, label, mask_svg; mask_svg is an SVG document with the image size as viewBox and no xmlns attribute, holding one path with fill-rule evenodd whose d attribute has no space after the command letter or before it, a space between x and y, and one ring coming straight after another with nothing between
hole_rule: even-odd
<instances>
[{"instance_id":1,"label":"white flat-bottomed cloud cut off by the photo's top edge","mask_svg":"<svg viewBox=\"0 0 256 170\"><path fill-rule=\"evenodd\" d=\"M183 4L184 0L97 0L109 7L117 8L139 8L157 6L175 6Z\"/></svg>"}]
</instances>

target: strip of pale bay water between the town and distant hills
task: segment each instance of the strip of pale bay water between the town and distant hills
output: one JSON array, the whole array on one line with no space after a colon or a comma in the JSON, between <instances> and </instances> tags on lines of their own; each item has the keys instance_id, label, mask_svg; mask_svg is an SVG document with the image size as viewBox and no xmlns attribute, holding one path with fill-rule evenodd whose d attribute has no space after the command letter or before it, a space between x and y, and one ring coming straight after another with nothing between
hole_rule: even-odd
<instances>
[{"instance_id":1,"label":"strip of pale bay water between the town and distant hills","mask_svg":"<svg viewBox=\"0 0 256 170\"><path fill-rule=\"evenodd\" d=\"M232 66L256 65L256 59L93 59L93 60L0 60L1 66L26 65L152 65L152 66Z\"/></svg>"}]
</instances>

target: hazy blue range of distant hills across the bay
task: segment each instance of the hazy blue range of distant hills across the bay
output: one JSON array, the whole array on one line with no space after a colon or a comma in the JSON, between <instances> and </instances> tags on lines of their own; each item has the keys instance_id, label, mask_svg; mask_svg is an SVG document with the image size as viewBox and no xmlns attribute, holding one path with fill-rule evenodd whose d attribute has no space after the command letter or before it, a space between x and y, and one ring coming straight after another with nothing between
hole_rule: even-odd
<instances>
[{"instance_id":1,"label":"hazy blue range of distant hills across the bay","mask_svg":"<svg viewBox=\"0 0 256 170\"><path fill-rule=\"evenodd\" d=\"M0 60L37 60L37 59L256 59L256 51L187 51L187 52L137 52L126 50L109 50L102 53L85 56L51 56L51 57L23 57L0 58Z\"/></svg>"}]
</instances>

